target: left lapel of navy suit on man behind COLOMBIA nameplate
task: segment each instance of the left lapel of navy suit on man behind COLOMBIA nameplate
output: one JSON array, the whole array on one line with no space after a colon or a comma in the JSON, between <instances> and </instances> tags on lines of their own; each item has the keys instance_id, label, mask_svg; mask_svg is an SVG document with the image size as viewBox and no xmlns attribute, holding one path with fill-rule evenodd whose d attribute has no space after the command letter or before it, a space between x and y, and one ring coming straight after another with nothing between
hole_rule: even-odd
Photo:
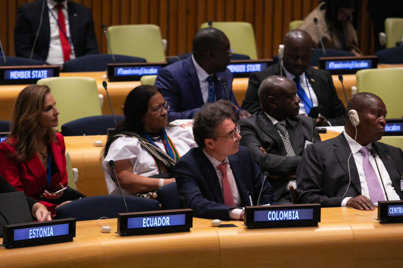
<instances>
[{"instance_id":1,"label":"left lapel of navy suit on man behind COLOMBIA nameplate","mask_svg":"<svg viewBox=\"0 0 403 268\"><path fill-rule=\"evenodd\" d=\"M212 193L214 194L218 203L224 204L224 196L222 196L220 182L218 181L216 170L214 169L212 163L206 155L204 155L202 148L197 150L197 155L199 157L199 165L201 167L201 172L203 177L206 179L208 186Z\"/></svg>"}]
</instances>

